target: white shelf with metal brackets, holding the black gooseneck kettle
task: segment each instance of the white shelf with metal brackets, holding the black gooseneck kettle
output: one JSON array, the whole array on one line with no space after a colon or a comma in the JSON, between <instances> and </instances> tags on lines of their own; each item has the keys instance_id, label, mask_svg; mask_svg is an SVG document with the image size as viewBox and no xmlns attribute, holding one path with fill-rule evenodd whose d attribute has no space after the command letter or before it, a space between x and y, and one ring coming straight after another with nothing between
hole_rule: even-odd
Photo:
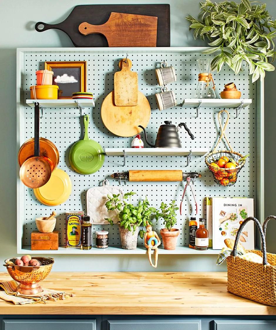
<instances>
[{"instance_id":1,"label":"white shelf with metal brackets, holding the black gooseneck kettle","mask_svg":"<svg viewBox=\"0 0 276 330\"><path fill-rule=\"evenodd\" d=\"M208 150L187 150L185 148L106 148L106 156L122 156L124 157L124 165L126 165L126 157L128 156L183 156L187 157L187 166L190 163L191 156L204 156Z\"/></svg>"}]
</instances>

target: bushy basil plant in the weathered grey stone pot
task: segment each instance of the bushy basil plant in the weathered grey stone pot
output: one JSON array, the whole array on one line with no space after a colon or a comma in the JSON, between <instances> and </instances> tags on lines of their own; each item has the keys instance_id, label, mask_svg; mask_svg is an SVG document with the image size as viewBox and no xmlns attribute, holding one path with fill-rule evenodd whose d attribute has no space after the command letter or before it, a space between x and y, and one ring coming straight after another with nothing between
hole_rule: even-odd
<instances>
[{"instance_id":1,"label":"bushy basil plant in the weathered grey stone pot","mask_svg":"<svg viewBox=\"0 0 276 330\"><path fill-rule=\"evenodd\" d=\"M146 221L151 225L151 215L156 213L154 207L149 206L147 197L142 201L139 201L136 206L130 203L130 199L136 192L130 191L124 194L123 201L119 199L120 194L107 195L107 202L105 206L108 211L118 210L119 214L119 230L121 236L122 248L132 250L137 248L138 233L143 236L144 231L139 229L139 226L146 226ZM129 203L127 202L129 200ZM113 221L110 218L106 220L113 225Z\"/></svg>"}]
</instances>

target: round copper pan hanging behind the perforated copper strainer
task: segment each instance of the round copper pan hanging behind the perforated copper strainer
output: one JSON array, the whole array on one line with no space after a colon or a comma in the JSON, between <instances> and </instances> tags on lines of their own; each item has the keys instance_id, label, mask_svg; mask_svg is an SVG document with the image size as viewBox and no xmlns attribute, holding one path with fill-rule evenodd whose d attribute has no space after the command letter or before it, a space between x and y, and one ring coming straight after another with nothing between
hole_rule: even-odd
<instances>
[{"instance_id":1,"label":"round copper pan hanging behind the perforated copper strainer","mask_svg":"<svg viewBox=\"0 0 276 330\"><path fill-rule=\"evenodd\" d=\"M43 157L51 166L51 171L59 164L59 150L48 139L39 138L39 155ZM34 138L25 141L18 152L18 163L21 167L24 161L34 156Z\"/></svg>"}]
</instances>

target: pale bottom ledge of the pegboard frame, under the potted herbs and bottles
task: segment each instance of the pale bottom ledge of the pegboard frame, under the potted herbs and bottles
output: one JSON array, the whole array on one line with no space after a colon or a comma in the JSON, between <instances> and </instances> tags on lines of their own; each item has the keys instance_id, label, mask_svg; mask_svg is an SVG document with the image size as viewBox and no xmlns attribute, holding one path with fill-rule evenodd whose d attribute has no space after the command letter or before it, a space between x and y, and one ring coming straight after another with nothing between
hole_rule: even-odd
<instances>
[{"instance_id":1,"label":"pale bottom ledge of the pegboard frame, under the potted herbs and bottles","mask_svg":"<svg viewBox=\"0 0 276 330\"><path fill-rule=\"evenodd\" d=\"M199 251L195 250L189 247L185 246L177 246L175 250L165 250L163 247L158 248L159 254L217 254L220 250L213 250L212 248L209 248L205 251ZM30 246L23 246L22 249L18 250L18 253L21 254L30 254L31 256L41 255L41 254L100 254L100 255L107 255L107 254L146 254L147 249L138 246L135 250L125 250L120 246L109 246L108 248L96 248L92 247L90 250L81 250L78 248L65 248L65 247L59 247L58 250L31 250Z\"/></svg>"}]
</instances>

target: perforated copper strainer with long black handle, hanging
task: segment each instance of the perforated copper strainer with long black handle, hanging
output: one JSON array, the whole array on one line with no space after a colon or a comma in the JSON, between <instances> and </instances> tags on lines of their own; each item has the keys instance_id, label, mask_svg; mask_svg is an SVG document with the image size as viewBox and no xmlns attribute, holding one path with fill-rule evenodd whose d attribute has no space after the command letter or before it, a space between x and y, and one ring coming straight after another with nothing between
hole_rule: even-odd
<instances>
[{"instance_id":1,"label":"perforated copper strainer with long black handle, hanging","mask_svg":"<svg viewBox=\"0 0 276 330\"><path fill-rule=\"evenodd\" d=\"M20 167L20 180L29 188L39 188L51 177L51 166L39 156L39 103L34 107L34 157L28 158Z\"/></svg>"}]
</instances>

